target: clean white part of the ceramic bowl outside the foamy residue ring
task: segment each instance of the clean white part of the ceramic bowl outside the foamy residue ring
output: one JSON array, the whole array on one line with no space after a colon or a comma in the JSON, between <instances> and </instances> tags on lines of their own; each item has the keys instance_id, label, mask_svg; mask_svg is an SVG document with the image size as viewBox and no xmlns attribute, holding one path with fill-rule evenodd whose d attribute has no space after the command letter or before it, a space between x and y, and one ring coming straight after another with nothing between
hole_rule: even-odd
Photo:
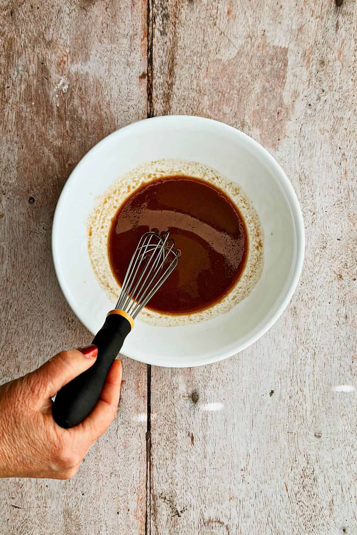
<instances>
[{"instance_id":1,"label":"clean white part of the ceramic bowl outside the foamy residue ring","mask_svg":"<svg viewBox=\"0 0 357 535\"><path fill-rule=\"evenodd\" d=\"M259 143L211 119L146 119L105 137L81 159L59 197L52 227L57 278L74 313L93 334L113 308L92 271L87 217L94 198L145 161L180 158L214 167L253 201L265 235L264 269L249 297L225 315L181 327L135 320L123 354L160 366L198 366L245 349L276 322L298 284L305 246L300 205L284 171Z\"/></svg>"}]
</instances>

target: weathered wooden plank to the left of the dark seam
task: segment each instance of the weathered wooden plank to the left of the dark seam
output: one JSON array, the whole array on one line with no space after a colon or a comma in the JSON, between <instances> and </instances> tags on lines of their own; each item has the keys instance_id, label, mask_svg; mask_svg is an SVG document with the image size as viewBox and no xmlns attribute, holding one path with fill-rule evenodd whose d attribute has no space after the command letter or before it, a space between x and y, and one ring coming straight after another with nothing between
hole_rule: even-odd
<instances>
[{"instance_id":1,"label":"weathered wooden plank to the left of the dark seam","mask_svg":"<svg viewBox=\"0 0 357 535\"><path fill-rule=\"evenodd\" d=\"M146 3L3 2L0 381L91 338L51 260L56 202L79 159L147 116ZM147 366L125 360L120 410L69 482L1 480L0 533L145 532Z\"/></svg>"}]
</instances>

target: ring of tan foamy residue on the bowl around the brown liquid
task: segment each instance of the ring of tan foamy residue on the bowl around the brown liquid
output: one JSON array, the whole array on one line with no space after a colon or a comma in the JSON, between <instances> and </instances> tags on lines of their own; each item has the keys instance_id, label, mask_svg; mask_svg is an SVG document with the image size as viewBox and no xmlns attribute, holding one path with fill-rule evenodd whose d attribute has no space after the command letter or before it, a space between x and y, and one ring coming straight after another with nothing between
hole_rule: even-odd
<instances>
[{"instance_id":1,"label":"ring of tan foamy residue on the bowl around the brown liquid","mask_svg":"<svg viewBox=\"0 0 357 535\"><path fill-rule=\"evenodd\" d=\"M117 301L120 286L113 276L108 257L108 235L112 219L121 204L136 189L155 179L172 177L173 175L200 178L222 189L244 218L248 233L248 256L245 268L236 285L221 301L211 305L211 307L184 315L161 314L143 309L138 316L138 319L143 322L167 327L200 323L228 312L252 292L261 277L264 264L264 238L259 216L245 192L236 182L228 180L215 169L197 162L162 159L143 163L123 174L102 195L98 196L95 200L95 207L88 217L90 262L98 282L113 304Z\"/></svg>"}]
</instances>

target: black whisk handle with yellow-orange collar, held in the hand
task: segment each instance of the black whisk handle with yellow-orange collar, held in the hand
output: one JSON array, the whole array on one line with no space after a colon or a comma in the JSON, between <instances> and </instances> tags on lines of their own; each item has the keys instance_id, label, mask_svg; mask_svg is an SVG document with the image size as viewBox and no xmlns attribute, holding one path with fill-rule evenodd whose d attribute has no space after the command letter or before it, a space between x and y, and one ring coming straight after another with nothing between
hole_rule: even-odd
<instances>
[{"instance_id":1,"label":"black whisk handle with yellow-orange collar, held in the hand","mask_svg":"<svg viewBox=\"0 0 357 535\"><path fill-rule=\"evenodd\" d=\"M133 325L133 319L126 312L121 310L109 312L103 327L92 342L98 348L95 363L57 392L52 414L58 425L65 429L74 427L94 409L110 366Z\"/></svg>"}]
</instances>

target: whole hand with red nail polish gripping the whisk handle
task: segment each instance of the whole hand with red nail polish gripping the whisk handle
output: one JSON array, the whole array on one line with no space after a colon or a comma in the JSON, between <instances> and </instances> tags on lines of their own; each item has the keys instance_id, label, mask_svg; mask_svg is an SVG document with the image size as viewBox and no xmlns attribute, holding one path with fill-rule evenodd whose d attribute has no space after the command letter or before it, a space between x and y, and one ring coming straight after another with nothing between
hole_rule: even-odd
<instances>
[{"instance_id":1,"label":"whole hand with red nail polish gripping the whisk handle","mask_svg":"<svg viewBox=\"0 0 357 535\"><path fill-rule=\"evenodd\" d=\"M39 369L0 386L0 477L70 479L116 416L121 362L114 361L100 400L83 422L59 427L53 396L92 366L97 348L62 351Z\"/></svg>"}]
</instances>

